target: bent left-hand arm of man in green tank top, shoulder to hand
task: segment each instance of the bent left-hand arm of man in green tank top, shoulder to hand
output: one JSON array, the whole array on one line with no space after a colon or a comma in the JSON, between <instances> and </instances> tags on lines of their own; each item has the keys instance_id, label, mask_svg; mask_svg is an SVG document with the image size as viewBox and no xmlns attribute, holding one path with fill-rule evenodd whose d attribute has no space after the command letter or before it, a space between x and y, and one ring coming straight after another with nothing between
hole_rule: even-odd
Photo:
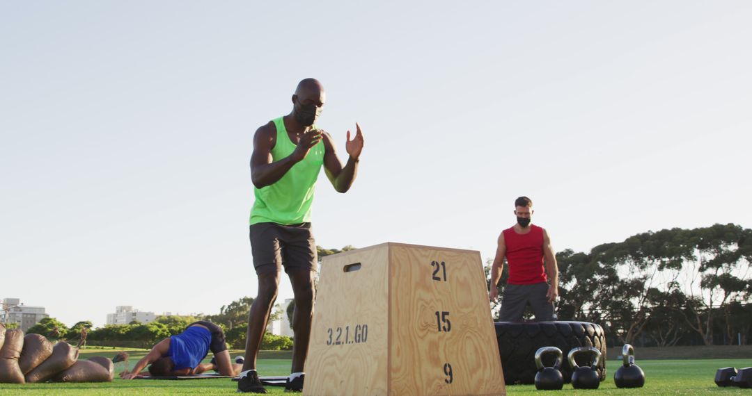
<instances>
[{"instance_id":1,"label":"bent left-hand arm of man in green tank top, shoulder to hand","mask_svg":"<svg viewBox=\"0 0 752 396\"><path fill-rule=\"evenodd\" d=\"M256 130L253 135L253 154L250 155L250 178L256 188L266 187L279 181L296 163L300 162L321 140L320 130L303 133L293 154L277 162L272 162L271 149L277 139L277 128L269 122Z\"/></svg>"}]
</instances>

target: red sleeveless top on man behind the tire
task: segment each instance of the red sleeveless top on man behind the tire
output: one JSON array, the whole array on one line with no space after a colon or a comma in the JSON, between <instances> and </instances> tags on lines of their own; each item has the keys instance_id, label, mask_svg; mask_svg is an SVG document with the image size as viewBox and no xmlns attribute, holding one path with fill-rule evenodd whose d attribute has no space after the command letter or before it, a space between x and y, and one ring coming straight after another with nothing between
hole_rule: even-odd
<instances>
[{"instance_id":1,"label":"red sleeveless top on man behind the tire","mask_svg":"<svg viewBox=\"0 0 752 396\"><path fill-rule=\"evenodd\" d=\"M543 229L531 225L530 232L518 234L514 227L504 230L507 245L509 279L507 284L538 284L546 282L543 266Z\"/></svg>"}]
</instances>

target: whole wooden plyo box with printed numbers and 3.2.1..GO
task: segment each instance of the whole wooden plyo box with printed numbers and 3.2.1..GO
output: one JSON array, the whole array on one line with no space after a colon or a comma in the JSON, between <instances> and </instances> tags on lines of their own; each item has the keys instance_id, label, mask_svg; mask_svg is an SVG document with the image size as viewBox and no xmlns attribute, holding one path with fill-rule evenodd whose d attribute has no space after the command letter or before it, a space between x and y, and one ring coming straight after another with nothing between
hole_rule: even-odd
<instances>
[{"instance_id":1,"label":"whole wooden plyo box with printed numbers and 3.2.1..GO","mask_svg":"<svg viewBox=\"0 0 752 396\"><path fill-rule=\"evenodd\" d=\"M478 251L323 257L304 395L505 395Z\"/></svg>"}]
</instances>

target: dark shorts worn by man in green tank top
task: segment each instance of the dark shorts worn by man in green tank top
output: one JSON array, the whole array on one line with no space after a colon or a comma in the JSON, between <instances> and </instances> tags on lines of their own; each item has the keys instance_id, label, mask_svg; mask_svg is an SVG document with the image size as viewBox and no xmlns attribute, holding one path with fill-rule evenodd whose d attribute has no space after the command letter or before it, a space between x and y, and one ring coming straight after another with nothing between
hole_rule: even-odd
<instances>
[{"instance_id":1,"label":"dark shorts worn by man in green tank top","mask_svg":"<svg viewBox=\"0 0 752 396\"><path fill-rule=\"evenodd\" d=\"M316 242L311 223L286 226L256 223L250 226L250 250L256 274L293 269L316 271Z\"/></svg>"}]
</instances>

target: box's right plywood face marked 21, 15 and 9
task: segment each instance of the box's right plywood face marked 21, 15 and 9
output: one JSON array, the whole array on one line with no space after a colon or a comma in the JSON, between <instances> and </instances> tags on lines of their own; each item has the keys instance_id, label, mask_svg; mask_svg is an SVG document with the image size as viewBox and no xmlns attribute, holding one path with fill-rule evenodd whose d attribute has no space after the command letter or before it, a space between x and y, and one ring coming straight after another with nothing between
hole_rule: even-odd
<instances>
[{"instance_id":1,"label":"box's right plywood face marked 21, 15 and 9","mask_svg":"<svg viewBox=\"0 0 752 396\"><path fill-rule=\"evenodd\" d=\"M390 248L390 394L503 395L480 253Z\"/></svg>"}]
</instances>

